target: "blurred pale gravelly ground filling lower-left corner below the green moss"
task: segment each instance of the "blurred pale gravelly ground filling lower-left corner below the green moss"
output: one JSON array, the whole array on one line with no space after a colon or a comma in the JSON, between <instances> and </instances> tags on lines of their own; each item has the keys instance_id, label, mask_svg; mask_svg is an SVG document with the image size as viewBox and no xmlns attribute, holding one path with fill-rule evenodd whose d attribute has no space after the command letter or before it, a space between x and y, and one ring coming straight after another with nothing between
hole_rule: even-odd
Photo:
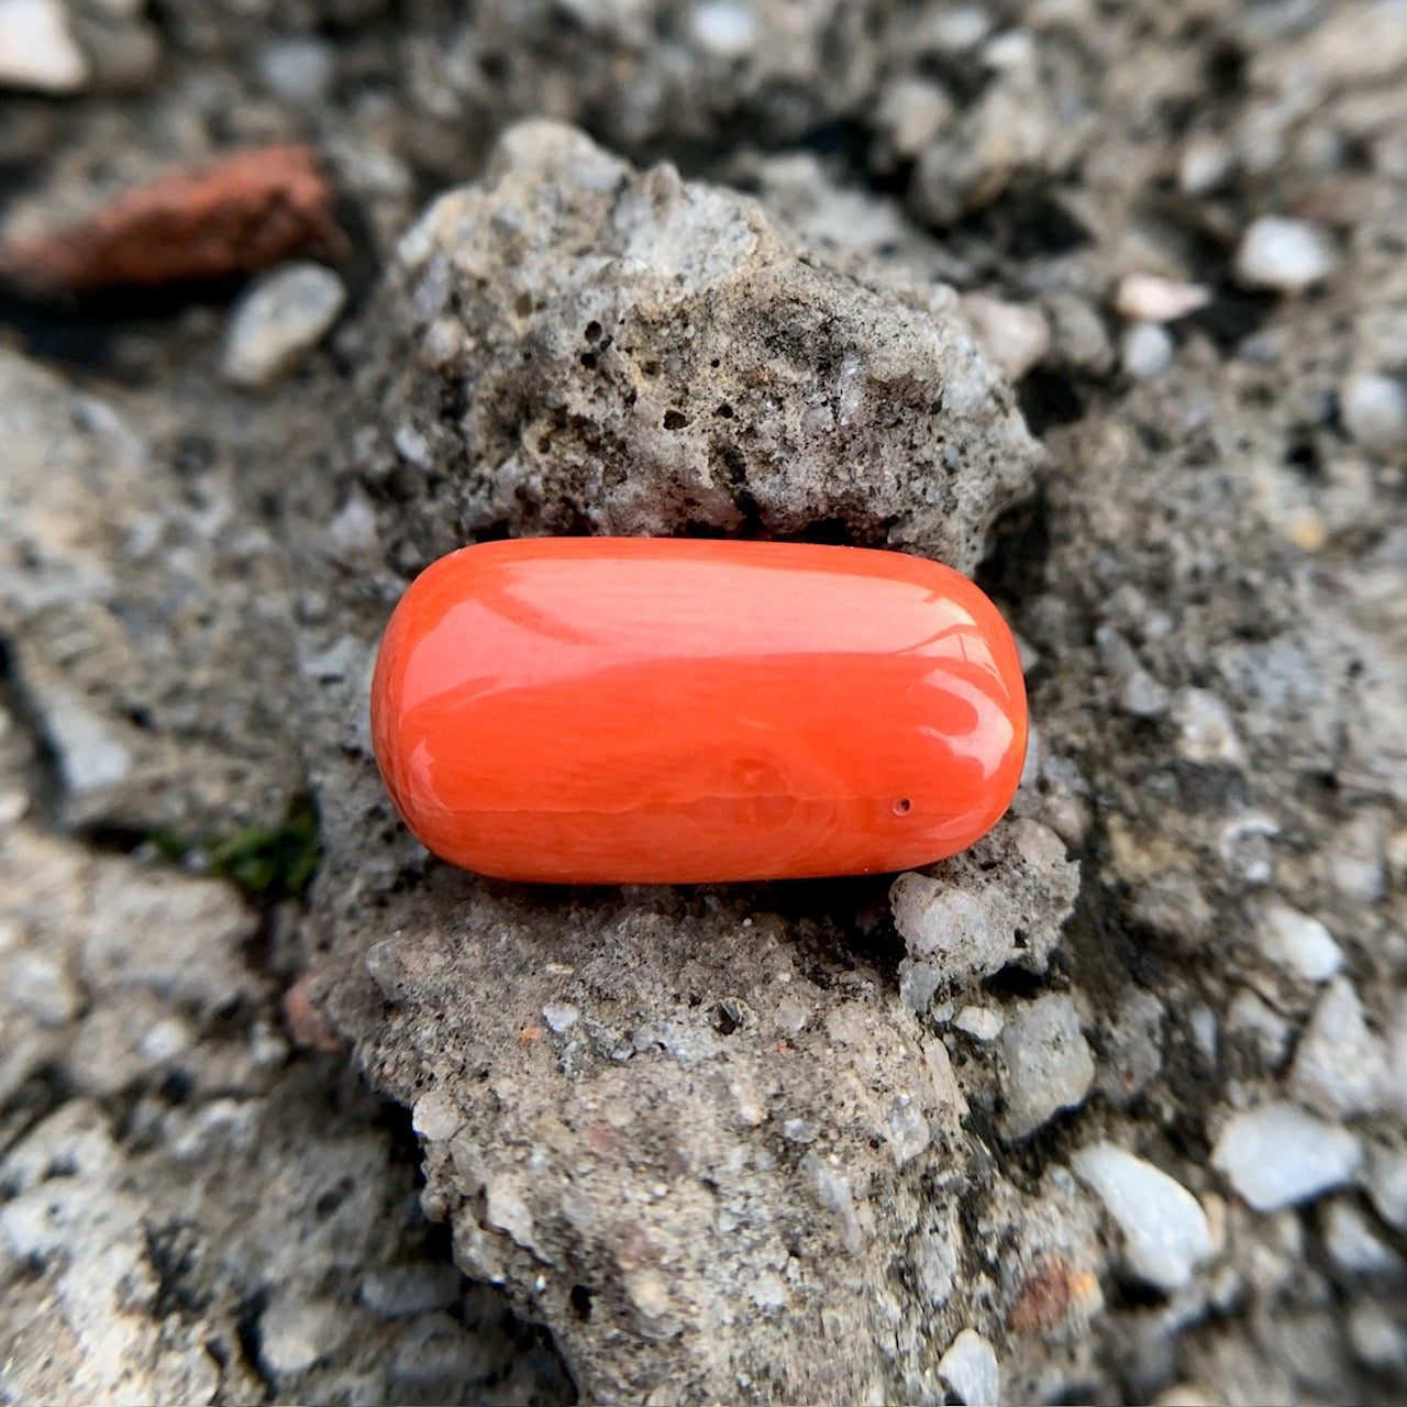
<instances>
[{"instance_id":1,"label":"blurred pale gravelly ground filling lower-left corner below the green moss","mask_svg":"<svg viewBox=\"0 0 1407 1407\"><path fill-rule=\"evenodd\" d=\"M291 910L55 834L34 743L0 701L0 1394L568 1401L426 1223L404 1116L290 1047Z\"/></svg>"}]
</instances>

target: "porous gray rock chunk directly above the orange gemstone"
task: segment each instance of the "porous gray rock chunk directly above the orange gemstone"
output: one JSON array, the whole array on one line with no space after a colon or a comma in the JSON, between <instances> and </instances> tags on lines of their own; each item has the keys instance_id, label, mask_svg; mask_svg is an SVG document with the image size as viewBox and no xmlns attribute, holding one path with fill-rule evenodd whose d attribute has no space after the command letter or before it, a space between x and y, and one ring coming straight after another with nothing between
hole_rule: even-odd
<instances>
[{"instance_id":1,"label":"porous gray rock chunk directly above the orange gemstone","mask_svg":"<svg viewBox=\"0 0 1407 1407\"><path fill-rule=\"evenodd\" d=\"M817 530L971 570L1036 460L957 311L746 197L529 122L397 250L363 478L401 573L474 535Z\"/></svg>"}]
</instances>

